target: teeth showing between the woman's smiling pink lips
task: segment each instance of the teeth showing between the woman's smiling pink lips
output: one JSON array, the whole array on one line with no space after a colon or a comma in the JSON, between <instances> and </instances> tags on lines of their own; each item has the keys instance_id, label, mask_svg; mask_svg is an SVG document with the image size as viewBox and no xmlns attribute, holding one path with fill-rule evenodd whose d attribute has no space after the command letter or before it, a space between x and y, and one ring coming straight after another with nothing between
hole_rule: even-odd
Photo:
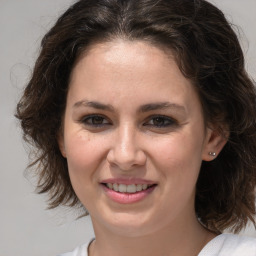
<instances>
[{"instance_id":1,"label":"teeth showing between the woman's smiling pink lips","mask_svg":"<svg viewBox=\"0 0 256 256\"><path fill-rule=\"evenodd\" d=\"M129 185L117 184L117 183L102 183L102 184L106 186L108 189L111 189L115 192L130 193L130 194L144 191L156 186L156 184L129 184Z\"/></svg>"}]
</instances>

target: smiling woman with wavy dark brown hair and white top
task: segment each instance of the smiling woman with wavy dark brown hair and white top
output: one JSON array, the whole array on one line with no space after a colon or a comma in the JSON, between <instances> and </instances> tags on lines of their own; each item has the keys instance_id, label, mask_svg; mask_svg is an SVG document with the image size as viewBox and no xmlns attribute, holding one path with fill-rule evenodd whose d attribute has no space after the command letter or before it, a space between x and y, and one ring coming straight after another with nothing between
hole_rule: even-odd
<instances>
[{"instance_id":1,"label":"smiling woman with wavy dark brown hair and white top","mask_svg":"<svg viewBox=\"0 0 256 256\"><path fill-rule=\"evenodd\" d=\"M80 0L46 34L17 107L50 208L85 207L65 255L256 255L256 93L220 10Z\"/></svg>"}]
</instances>

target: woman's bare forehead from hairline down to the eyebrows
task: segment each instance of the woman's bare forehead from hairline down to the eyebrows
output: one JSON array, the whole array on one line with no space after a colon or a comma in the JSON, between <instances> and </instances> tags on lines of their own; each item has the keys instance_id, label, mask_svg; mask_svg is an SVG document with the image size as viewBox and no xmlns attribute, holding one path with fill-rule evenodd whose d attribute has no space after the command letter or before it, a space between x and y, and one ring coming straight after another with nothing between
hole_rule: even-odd
<instances>
[{"instance_id":1,"label":"woman's bare forehead from hairline down to the eyebrows","mask_svg":"<svg viewBox=\"0 0 256 256\"><path fill-rule=\"evenodd\" d=\"M81 55L72 71L70 94L105 101L107 95L114 102L136 98L142 104L171 100L180 105L198 100L171 51L121 39L94 44Z\"/></svg>"}]
</instances>

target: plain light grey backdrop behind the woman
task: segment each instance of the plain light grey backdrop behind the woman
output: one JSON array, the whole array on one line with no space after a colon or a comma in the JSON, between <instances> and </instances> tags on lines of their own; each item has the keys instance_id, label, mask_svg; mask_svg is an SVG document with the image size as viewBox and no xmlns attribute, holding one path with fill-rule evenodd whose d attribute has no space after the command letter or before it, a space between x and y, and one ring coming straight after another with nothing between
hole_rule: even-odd
<instances>
[{"instance_id":1,"label":"plain light grey backdrop behind the woman","mask_svg":"<svg viewBox=\"0 0 256 256\"><path fill-rule=\"evenodd\" d=\"M13 114L42 36L73 0L0 0L0 256L69 251L93 236L90 219L68 209L46 210L24 176L27 147ZM256 0L213 0L240 27L246 67L256 80ZM256 236L248 228L247 235Z\"/></svg>"}]
</instances>

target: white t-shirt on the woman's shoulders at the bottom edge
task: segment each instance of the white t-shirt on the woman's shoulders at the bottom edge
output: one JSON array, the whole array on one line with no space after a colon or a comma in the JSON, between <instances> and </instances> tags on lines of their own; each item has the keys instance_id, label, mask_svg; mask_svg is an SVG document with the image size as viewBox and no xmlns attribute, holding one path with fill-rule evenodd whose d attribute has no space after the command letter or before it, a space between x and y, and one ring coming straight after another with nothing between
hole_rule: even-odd
<instances>
[{"instance_id":1,"label":"white t-shirt on the woman's shoulders at the bottom edge","mask_svg":"<svg viewBox=\"0 0 256 256\"><path fill-rule=\"evenodd\" d=\"M88 256L89 244L59 256ZM198 256L256 256L256 238L221 234L206 244Z\"/></svg>"}]
</instances>

